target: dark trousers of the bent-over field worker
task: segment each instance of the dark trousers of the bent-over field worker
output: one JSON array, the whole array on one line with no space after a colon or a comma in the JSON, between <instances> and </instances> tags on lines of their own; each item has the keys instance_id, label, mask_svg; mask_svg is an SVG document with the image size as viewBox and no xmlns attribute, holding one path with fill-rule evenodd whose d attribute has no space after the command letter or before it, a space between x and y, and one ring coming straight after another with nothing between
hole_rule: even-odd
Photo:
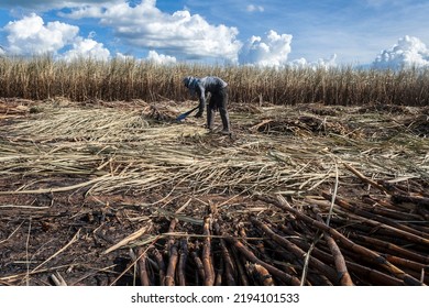
<instances>
[{"instance_id":1,"label":"dark trousers of the bent-over field worker","mask_svg":"<svg viewBox=\"0 0 429 308\"><path fill-rule=\"evenodd\" d=\"M230 117L227 110L228 106L228 87L211 94L209 108L207 109L207 128L213 129L215 114L219 110L220 119L222 120L223 131L230 131Z\"/></svg>"}]
</instances>

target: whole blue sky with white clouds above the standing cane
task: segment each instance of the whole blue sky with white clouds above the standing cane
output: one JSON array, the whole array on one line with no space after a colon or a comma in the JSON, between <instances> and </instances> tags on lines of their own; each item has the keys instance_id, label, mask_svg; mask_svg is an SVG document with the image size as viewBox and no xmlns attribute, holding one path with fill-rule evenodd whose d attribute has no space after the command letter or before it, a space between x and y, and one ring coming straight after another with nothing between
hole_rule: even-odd
<instances>
[{"instance_id":1,"label":"whole blue sky with white clouds above the standing cane","mask_svg":"<svg viewBox=\"0 0 429 308\"><path fill-rule=\"evenodd\" d=\"M2 0L3 54L429 64L427 0Z\"/></svg>"}]
</instances>

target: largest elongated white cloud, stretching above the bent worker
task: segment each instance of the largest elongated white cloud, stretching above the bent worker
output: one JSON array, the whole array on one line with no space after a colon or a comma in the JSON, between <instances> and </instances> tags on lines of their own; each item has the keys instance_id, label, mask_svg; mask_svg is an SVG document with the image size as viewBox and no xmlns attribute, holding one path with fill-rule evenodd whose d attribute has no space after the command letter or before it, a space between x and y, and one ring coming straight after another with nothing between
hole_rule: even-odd
<instances>
[{"instance_id":1,"label":"largest elongated white cloud, stretching above the bent worker","mask_svg":"<svg viewBox=\"0 0 429 308\"><path fill-rule=\"evenodd\" d=\"M156 8L155 0L130 6L124 0L103 6L75 8L64 16L99 19L102 26L113 29L116 37L139 48L160 50L185 59L212 58L237 63L242 44L239 31L223 24L208 23L199 14Z\"/></svg>"}]
</instances>

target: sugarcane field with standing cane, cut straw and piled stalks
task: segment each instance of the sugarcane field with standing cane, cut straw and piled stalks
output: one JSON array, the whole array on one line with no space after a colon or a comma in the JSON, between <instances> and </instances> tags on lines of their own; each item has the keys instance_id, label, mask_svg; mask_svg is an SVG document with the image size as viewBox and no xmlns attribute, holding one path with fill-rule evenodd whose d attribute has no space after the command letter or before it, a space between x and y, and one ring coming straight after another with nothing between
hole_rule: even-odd
<instances>
[{"instance_id":1,"label":"sugarcane field with standing cane, cut straw and piled stalks","mask_svg":"<svg viewBox=\"0 0 429 308\"><path fill-rule=\"evenodd\" d=\"M262 88L210 72L231 89L221 134L218 114L212 131L177 120L198 101L175 69L172 95L150 84L162 73L138 84L129 69L123 84L77 78L63 92L2 84L0 285L429 283L428 86L407 105L410 75L378 89L340 72L332 90L321 72L251 74ZM388 87L400 103L371 98Z\"/></svg>"}]
</instances>

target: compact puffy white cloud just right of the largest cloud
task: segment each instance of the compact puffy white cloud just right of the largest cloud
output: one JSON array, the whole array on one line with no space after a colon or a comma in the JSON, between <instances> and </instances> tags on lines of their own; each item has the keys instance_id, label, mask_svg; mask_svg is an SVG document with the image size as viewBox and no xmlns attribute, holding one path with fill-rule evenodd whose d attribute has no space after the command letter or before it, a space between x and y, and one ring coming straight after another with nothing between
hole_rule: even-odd
<instances>
[{"instance_id":1,"label":"compact puffy white cloud just right of the largest cloud","mask_svg":"<svg viewBox=\"0 0 429 308\"><path fill-rule=\"evenodd\" d=\"M282 67L290 53L290 34L277 34L271 30L266 37L252 36L239 54L240 64Z\"/></svg>"}]
</instances>

